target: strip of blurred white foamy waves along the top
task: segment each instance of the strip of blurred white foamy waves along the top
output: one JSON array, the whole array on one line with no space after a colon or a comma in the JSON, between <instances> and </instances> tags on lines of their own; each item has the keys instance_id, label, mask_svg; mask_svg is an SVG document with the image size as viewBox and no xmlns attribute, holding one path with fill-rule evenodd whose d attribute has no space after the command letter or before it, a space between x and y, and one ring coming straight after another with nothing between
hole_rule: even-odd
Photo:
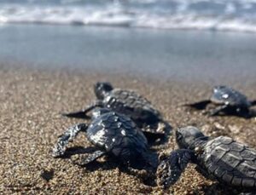
<instances>
[{"instance_id":1,"label":"strip of blurred white foamy waves along the top","mask_svg":"<svg viewBox=\"0 0 256 195\"><path fill-rule=\"evenodd\" d=\"M256 32L256 0L0 1L0 23Z\"/></svg>"}]
</instances>

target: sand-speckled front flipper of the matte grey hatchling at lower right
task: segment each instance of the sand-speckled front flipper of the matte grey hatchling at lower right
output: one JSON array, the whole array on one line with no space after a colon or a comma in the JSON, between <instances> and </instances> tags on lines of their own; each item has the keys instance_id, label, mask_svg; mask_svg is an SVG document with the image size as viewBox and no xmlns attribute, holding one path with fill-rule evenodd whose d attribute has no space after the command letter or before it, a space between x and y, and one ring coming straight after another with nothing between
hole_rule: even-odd
<instances>
[{"instance_id":1,"label":"sand-speckled front flipper of the matte grey hatchling at lower right","mask_svg":"<svg viewBox=\"0 0 256 195\"><path fill-rule=\"evenodd\" d=\"M195 160L195 154L188 149L178 149L161 160L157 169L158 184L165 189L177 182L188 163Z\"/></svg>"}]
</instances>

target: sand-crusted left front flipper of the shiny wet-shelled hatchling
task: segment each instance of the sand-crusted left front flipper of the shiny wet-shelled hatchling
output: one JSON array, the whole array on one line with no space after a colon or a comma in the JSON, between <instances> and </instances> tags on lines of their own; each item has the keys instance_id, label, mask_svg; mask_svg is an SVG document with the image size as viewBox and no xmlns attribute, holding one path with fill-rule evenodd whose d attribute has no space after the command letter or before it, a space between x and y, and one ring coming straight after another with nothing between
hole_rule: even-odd
<instances>
[{"instance_id":1,"label":"sand-crusted left front flipper of the shiny wet-shelled hatchling","mask_svg":"<svg viewBox=\"0 0 256 195\"><path fill-rule=\"evenodd\" d=\"M55 144L52 150L52 156L55 158L61 157L64 155L67 149L67 144L79 134L79 132L86 132L88 125L85 123L79 123L67 129L67 131L62 134L57 143Z\"/></svg>"}]
</instances>

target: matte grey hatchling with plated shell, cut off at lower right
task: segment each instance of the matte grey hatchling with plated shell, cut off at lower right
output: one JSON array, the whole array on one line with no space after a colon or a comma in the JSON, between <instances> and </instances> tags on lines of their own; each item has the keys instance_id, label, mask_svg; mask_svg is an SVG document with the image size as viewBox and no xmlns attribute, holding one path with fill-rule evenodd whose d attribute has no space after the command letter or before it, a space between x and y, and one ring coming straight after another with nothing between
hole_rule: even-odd
<instances>
[{"instance_id":1,"label":"matte grey hatchling with plated shell, cut off at lower right","mask_svg":"<svg viewBox=\"0 0 256 195\"><path fill-rule=\"evenodd\" d=\"M199 129L188 126L177 130L177 145L181 148L160 162L158 182L172 186L188 163L208 179L242 189L256 189L256 150L230 137L214 139Z\"/></svg>"}]
</instances>

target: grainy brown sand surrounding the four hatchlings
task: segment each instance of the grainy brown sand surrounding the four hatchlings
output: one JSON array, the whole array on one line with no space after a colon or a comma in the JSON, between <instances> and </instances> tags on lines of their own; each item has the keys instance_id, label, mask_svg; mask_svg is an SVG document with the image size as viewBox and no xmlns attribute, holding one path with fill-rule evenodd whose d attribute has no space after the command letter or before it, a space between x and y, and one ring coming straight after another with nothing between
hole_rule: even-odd
<instances>
[{"instance_id":1,"label":"grainy brown sand surrounding the four hatchlings","mask_svg":"<svg viewBox=\"0 0 256 195\"><path fill-rule=\"evenodd\" d=\"M47 72L0 69L0 193L2 194L232 194L230 189L198 174L193 165L169 191L148 186L143 176L126 174L112 162L96 163L91 169L73 165L69 158L52 158L50 151L58 135L80 119L60 116L76 111L95 99L92 85L108 80L114 86L134 89L159 108L174 129L194 124L207 135L230 135L256 147L256 120L236 117L208 118L178 106L188 100L201 100L211 94L206 83L152 81L127 75L101 75L88 72ZM256 98L256 82L235 87ZM69 147L91 146L79 135ZM176 148L173 136L166 149ZM154 178L149 178L153 180Z\"/></svg>"}]
</instances>

